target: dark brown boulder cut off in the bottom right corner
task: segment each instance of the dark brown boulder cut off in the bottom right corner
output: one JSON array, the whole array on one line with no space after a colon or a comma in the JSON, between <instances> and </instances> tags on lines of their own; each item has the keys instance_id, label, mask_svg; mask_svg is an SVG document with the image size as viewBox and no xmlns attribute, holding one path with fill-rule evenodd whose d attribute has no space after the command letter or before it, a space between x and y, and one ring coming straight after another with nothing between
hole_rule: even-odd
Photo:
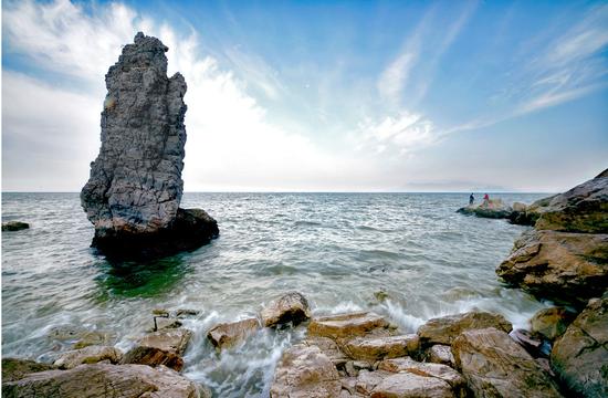
<instances>
[{"instance_id":1,"label":"dark brown boulder cut off in the bottom right corner","mask_svg":"<svg viewBox=\"0 0 608 398\"><path fill-rule=\"evenodd\" d=\"M551 353L551 366L577 397L608 397L608 296L593 298Z\"/></svg>"}]
</instances>

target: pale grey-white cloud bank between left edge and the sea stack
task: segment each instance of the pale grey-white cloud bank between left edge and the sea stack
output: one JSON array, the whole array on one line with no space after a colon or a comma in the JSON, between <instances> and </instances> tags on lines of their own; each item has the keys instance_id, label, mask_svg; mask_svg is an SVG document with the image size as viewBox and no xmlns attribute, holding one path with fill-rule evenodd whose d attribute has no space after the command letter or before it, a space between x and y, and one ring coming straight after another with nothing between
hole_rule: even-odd
<instances>
[{"instance_id":1,"label":"pale grey-white cloud bank between left edge and the sea stack","mask_svg":"<svg viewBox=\"0 0 608 398\"><path fill-rule=\"evenodd\" d=\"M73 191L99 148L95 98L2 72L2 188Z\"/></svg>"}]
</instances>

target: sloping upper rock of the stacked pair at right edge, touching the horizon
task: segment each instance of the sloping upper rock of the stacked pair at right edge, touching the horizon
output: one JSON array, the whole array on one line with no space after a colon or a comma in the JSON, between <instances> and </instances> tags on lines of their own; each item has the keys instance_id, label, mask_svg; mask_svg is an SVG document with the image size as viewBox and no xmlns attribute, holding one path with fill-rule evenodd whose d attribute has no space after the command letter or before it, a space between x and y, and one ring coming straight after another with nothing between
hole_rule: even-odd
<instances>
[{"instance_id":1,"label":"sloping upper rock of the stacked pair at right edge, touching the horizon","mask_svg":"<svg viewBox=\"0 0 608 398\"><path fill-rule=\"evenodd\" d=\"M573 189L534 202L535 228L564 232L608 233L608 177L598 177Z\"/></svg>"}]
</instances>

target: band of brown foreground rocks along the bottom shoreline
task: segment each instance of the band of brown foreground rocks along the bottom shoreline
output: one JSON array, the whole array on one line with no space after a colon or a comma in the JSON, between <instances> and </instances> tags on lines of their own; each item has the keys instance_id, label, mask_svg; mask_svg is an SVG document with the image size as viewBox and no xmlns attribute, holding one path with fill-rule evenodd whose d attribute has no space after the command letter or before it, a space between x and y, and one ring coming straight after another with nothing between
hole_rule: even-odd
<instances>
[{"instance_id":1,"label":"band of brown foreground rocks along the bottom shoreline","mask_svg":"<svg viewBox=\"0 0 608 398\"><path fill-rule=\"evenodd\" d=\"M88 336L54 364L3 358L2 396L210 397L209 388L180 375L184 352L193 344L180 320L197 312L157 310L154 315L156 331L126 353ZM305 328L305 337L276 365L273 398L601 397L608 388L607 325L605 296L589 301L578 315L543 310L531 320L530 332L513 331L500 314L472 311L432 318L417 333L402 334L373 312L313 316L307 300L293 292L256 317L211 327L207 338L221 355L262 327ZM538 349L543 344L549 349Z\"/></svg>"}]
</instances>

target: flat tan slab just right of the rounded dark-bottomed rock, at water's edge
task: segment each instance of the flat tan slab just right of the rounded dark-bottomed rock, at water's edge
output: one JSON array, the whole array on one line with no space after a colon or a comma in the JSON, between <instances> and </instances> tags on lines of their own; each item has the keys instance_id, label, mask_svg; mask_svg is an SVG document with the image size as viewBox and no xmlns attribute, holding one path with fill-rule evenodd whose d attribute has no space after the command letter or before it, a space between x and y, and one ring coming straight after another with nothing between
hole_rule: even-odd
<instances>
[{"instance_id":1,"label":"flat tan slab just right of the rounded dark-bottomed rock, at water's edge","mask_svg":"<svg viewBox=\"0 0 608 398\"><path fill-rule=\"evenodd\" d=\"M375 329L386 329L388 327L388 322L380 315L367 312L350 313L322 316L311 321L308 335L337 339L364 336Z\"/></svg>"}]
</instances>

